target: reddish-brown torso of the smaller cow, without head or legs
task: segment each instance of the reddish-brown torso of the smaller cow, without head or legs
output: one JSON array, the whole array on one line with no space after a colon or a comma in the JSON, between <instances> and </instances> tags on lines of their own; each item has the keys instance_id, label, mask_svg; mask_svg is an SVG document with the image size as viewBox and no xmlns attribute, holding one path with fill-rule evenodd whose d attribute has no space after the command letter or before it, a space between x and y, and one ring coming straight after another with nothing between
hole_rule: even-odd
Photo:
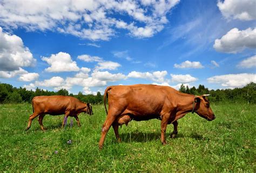
<instances>
[{"instance_id":1,"label":"reddish-brown torso of the smaller cow, without head or legs","mask_svg":"<svg viewBox=\"0 0 256 173\"><path fill-rule=\"evenodd\" d=\"M35 96L32 104L38 114L61 115L65 114L66 110L76 108L76 98L62 95Z\"/></svg>"}]
</instances>

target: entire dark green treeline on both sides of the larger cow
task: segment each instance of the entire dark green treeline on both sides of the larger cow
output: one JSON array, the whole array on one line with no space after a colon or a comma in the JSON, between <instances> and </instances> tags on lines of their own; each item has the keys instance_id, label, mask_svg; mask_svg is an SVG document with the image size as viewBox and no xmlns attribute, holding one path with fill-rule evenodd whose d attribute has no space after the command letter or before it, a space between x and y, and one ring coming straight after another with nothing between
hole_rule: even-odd
<instances>
[{"instance_id":1,"label":"entire dark green treeline on both sides of the larger cow","mask_svg":"<svg viewBox=\"0 0 256 173\"><path fill-rule=\"evenodd\" d=\"M184 85L180 86L180 92L202 95L202 94L211 94L208 99L211 102L240 102L240 103L256 103L256 84L251 82L242 88L234 89L208 89L204 85L199 85L196 87L185 87ZM103 103L103 95L100 92L97 95L87 94L84 95L82 92L79 92L77 95L69 93L66 89L60 89L57 92L47 91L43 89L36 88L35 91L27 90L26 88L16 88L10 84L0 84L0 103L21 103L21 102L31 102L34 96L38 95L69 95L74 96L75 98L92 104Z\"/></svg>"}]
</instances>

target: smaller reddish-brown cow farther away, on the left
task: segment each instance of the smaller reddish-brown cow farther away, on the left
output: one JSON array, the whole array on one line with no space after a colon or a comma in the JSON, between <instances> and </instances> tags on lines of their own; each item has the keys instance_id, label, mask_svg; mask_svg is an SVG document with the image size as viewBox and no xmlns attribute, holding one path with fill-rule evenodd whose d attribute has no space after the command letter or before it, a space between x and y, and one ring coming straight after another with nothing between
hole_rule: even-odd
<instances>
[{"instance_id":1,"label":"smaller reddish-brown cow farther away, on the left","mask_svg":"<svg viewBox=\"0 0 256 173\"><path fill-rule=\"evenodd\" d=\"M83 103L82 101L73 98L72 96L63 95L52 95L52 96L35 96L32 99L33 114L29 116L29 123L26 130L31 126L31 122L35 117L38 117L38 122L41 129L44 130L43 118L45 114L50 115L62 115L65 114L62 127L64 126L64 120L68 119L68 116L73 116L76 118L78 126L80 127L80 122L78 119L78 114L84 112L92 115L92 107L90 103Z\"/></svg>"}]
</instances>

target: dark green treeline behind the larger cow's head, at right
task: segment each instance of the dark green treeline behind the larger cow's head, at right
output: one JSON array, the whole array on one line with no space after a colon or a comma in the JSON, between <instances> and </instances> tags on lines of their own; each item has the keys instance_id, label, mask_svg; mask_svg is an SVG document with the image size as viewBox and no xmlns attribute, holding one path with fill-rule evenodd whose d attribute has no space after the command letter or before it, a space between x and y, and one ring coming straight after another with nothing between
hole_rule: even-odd
<instances>
[{"instance_id":1,"label":"dark green treeline behind the larger cow's head, at right","mask_svg":"<svg viewBox=\"0 0 256 173\"><path fill-rule=\"evenodd\" d=\"M256 103L256 84L251 82L242 88L234 89L208 89L204 85L199 85L198 88L184 86L183 84L179 88L180 92L193 94L193 95L202 95L202 94L211 94L208 96L208 100L211 102L240 102L240 103Z\"/></svg>"}]
</instances>

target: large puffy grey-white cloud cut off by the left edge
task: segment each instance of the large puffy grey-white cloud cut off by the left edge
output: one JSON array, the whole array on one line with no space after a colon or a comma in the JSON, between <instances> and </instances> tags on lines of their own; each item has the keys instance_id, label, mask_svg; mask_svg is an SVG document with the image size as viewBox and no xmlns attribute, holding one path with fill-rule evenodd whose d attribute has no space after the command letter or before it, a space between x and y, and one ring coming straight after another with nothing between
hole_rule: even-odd
<instances>
[{"instance_id":1,"label":"large puffy grey-white cloud cut off by the left edge","mask_svg":"<svg viewBox=\"0 0 256 173\"><path fill-rule=\"evenodd\" d=\"M0 27L0 40L0 71L17 71L19 67L35 64L36 60L20 37L5 33Z\"/></svg>"}]
</instances>

